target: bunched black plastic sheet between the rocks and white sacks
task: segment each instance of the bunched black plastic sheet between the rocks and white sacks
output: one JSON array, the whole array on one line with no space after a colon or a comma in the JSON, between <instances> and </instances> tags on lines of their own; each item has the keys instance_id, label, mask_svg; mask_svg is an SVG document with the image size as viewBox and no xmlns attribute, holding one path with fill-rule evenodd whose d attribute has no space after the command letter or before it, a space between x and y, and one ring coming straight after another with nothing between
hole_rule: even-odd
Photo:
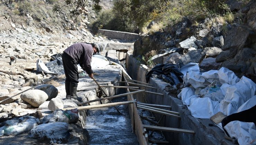
<instances>
[{"instance_id":1,"label":"bunched black plastic sheet between the rocks and white sacks","mask_svg":"<svg viewBox=\"0 0 256 145\"><path fill-rule=\"evenodd\" d=\"M180 67L177 64L157 64L146 75L146 81L148 83L152 74L158 75L158 78L163 79L165 82L171 85L177 85L183 82L183 74L180 71Z\"/></svg>"}]
</instances>

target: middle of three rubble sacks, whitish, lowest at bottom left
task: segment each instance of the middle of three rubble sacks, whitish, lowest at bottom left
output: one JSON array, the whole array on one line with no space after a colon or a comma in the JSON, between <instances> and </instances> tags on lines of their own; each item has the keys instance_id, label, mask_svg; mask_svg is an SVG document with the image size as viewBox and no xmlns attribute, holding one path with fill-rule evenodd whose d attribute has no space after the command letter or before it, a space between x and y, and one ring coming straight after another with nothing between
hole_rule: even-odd
<instances>
[{"instance_id":1,"label":"middle of three rubble sacks, whitish, lowest at bottom left","mask_svg":"<svg viewBox=\"0 0 256 145\"><path fill-rule=\"evenodd\" d=\"M28 132L29 137L50 139L51 144L61 144L64 139L70 136L71 130L65 122L40 124Z\"/></svg>"}]
</instances>

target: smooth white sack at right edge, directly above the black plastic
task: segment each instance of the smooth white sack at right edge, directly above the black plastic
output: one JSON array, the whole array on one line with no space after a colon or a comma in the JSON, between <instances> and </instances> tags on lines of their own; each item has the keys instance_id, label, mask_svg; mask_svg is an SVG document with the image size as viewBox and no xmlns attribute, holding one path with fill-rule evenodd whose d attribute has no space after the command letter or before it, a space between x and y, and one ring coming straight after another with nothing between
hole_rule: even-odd
<instances>
[{"instance_id":1,"label":"smooth white sack at right edge, directly above the black plastic","mask_svg":"<svg viewBox=\"0 0 256 145\"><path fill-rule=\"evenodd\" d=\"M252 98L256 92L256 84L243 76L240 81L227 88L225 98L220 102L220 110L225 115L237 113L238 108Z\"/></svg>"}]
</instances>

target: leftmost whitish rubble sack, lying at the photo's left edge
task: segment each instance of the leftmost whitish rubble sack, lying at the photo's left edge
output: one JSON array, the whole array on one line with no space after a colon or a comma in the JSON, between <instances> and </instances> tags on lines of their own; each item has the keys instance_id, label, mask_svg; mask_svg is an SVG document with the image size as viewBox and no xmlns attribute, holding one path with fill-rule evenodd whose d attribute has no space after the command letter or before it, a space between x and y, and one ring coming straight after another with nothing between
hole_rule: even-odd
<instances>
[{"instance_id":1,"label":"leftmost whitish rubble sack, lying at the photo's left edge","mask_svg":"<svg viewBox=\"0 0 256 145\"><path fill-rule=\"evenodd\" d=\"M5 125L0 128L0 136L17 135L37 126L39 120L33 116L20 117L19 119L7 120Z\"/></svg>"}]
</instances>

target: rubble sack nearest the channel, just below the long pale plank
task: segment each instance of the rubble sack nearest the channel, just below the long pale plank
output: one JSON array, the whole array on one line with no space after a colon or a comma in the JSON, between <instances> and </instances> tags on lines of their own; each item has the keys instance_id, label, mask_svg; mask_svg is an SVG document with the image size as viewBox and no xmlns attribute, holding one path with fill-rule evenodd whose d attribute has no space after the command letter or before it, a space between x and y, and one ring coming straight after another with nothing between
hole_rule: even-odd
<instances>
[{"instance_id":1,"label":"rubble sack nearest the channel, just below the long pale plank","mask_svg":"<svg viewBox=\"0 0 256 145\"><path fill-rule=\"evenodd\" d=\"M65 123L77 123L79 119L78 109L71 110L55 110L52 114L49 114L43 118L42 123L55 123L55 122L65 122Z\"/></svg>"}]
</instances>

